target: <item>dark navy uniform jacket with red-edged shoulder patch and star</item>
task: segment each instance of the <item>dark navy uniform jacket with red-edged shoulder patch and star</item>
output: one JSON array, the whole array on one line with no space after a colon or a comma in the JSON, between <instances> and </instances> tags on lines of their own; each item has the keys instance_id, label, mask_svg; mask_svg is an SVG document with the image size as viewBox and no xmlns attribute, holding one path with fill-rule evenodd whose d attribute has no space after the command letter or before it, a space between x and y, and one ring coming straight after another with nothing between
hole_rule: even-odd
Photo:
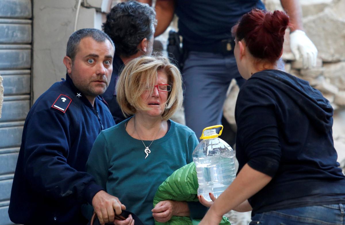
<instances>
[{"instance_id":1,"label":"dark navy uniform jacket with red-edged shoulder patch and star","mask_svg":"<svg viewBox=\"0 0 345 225\"><path fill-rule=\"evenodd\" d=\"M9 216L19 224L86 224L82 203L102 188L85 172L93 142L115 125L101 97L94 106L71 78L56 82L26 118Z\"/></svg>"}]
</instances>

